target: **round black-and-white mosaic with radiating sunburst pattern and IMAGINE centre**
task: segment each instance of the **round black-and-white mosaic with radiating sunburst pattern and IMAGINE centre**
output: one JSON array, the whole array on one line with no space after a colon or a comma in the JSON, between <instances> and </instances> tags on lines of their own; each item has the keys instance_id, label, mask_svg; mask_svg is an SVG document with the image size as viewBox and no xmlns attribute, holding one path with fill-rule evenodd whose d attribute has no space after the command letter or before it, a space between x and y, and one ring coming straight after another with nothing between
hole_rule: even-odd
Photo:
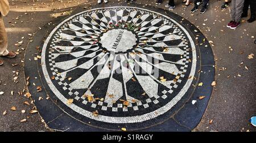
<instances>
[{"instance_id":1,"label":"round black-and-white mosaic with radiating sunburst pattern and IMAGINE centre","mask_svg":"<svg viewBox=\"0 0 256 143\"><path fill-rule=\"evenodd\" d=\"M151 120L150 125L171 112L191 86L196 55L189 33L166 15L135 7L96 8L53 29L43 45L42 70L51 96L77 119Z\"/></svg>"}]
</instances>

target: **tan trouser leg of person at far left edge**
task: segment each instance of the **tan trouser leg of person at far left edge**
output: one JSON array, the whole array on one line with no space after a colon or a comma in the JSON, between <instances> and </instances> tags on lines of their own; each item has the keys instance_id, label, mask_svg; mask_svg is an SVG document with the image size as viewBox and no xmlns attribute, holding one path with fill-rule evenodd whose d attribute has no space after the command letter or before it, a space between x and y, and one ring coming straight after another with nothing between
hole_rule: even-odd
<instances>
[{"instance_id":1,"label":"tan trouser leg of person at far left edge","mask_svg":"<svg viewBox=\"0 0 256 143\"><path fill-rule=\"evenodd\" d=\"M7 34L5 31L5 25L3 25L2 15L0 13L0 56L7 55L9 51L7 50Z\"/></svg>"}]
</instances>

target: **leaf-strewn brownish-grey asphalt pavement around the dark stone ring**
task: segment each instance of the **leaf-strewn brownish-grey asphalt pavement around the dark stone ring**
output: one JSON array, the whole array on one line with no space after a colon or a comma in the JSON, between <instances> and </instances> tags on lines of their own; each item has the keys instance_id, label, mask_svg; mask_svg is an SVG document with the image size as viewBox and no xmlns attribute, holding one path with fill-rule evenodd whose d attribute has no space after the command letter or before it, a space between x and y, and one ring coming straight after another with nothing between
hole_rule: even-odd
<instances>
[{"instance_id":1,"label":"leaf-strewn brownish-grey asphalt pavement around the dark stone ring","mask_svg":"<svg viewBox=\"0 0 256 143\"><path fill-rule=\"evenodd\" d=\"M121 1L110 1L111 3ZM137 1L137 3L155 6L155 1ZM157 7L164 8L162 5ZM19 53L15 59L3 58L5 64L0 68L0 131L52 131L48 129L40 115L30 114L35 109L32 99L24 97L26 77L24 77L23 58L28 42L36 31L56 16L72 14L77 7L93 7L96 1L11 1L10 14L4 18L9 37L9 49ZM216 62L217 86L214 87L207 110L194 131L256 131L249 123L256 114L255 102L255 54L254 39L256 23L242 24L236 30L226 28L230 20L230 8L222 11L222 1L210 1L205 14L191 14L193 7L176 3L173 12L195 24L212 43ZM36 47L35 47L36 48ZM17 64L17 65L16 65ZM18 79L16 79L18 77ZM18 81L15 83L15 81ZM30 83L32 84L32 83ZM13 91L13 95L11 95ZM18 92L22 92L21 95ZM24 104L24 101L30 105ZM11 110L15 106L16 110ZM14 109L14 108L12 108ZM22 113L25 110L25 113ZM6 114L3 115L3 113ZM27 119L26 122L20 120Z\"/></svg>"}]
</instances>

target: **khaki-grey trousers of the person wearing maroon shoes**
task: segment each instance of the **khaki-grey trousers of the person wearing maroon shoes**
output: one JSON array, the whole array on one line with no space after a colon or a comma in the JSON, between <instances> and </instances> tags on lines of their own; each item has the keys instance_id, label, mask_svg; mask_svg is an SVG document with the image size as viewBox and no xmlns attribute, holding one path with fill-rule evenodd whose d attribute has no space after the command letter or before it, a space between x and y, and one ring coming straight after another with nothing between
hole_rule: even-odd
<instances>
[{"instance_id":1,"label":"khaki-grey trousers of the person wearing maroon shoes","mask_svg":"<svg viewBox=\"0 0 256 143\"><path fill-rule=\"evenodd\" d=\"M231 18L237 23L240 22L245 0L232 0Z\"/></svg>"}]
</instances>

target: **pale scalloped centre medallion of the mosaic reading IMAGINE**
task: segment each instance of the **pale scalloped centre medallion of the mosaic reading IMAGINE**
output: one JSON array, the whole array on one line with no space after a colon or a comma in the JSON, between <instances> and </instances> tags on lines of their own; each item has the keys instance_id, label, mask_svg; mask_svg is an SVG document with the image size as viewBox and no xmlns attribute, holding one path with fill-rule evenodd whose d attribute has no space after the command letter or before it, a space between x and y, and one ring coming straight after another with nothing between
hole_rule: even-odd
<instances>
[{"instance_id":1,"label":"pale scalloped centre medallion of the mosaic reading IMAGINE","mask_svg":"<svg viewBox=\"0 0 256 143\"><path fill-rule=\"evenodd\" d=\"M125 52L132 49L136 41L135 35L126 29L113 29L101 37L102 46L114 52Z\"/></svg>"}]
</instances>

